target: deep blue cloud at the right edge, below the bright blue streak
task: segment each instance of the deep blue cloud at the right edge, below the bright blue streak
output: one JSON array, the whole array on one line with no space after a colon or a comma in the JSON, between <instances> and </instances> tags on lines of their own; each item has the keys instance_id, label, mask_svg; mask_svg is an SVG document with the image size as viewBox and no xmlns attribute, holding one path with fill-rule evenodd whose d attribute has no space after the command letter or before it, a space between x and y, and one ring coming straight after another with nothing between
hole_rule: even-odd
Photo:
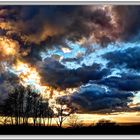
<instances>
[{"instance_id":1,"label":"deep blue cloud at the right edge, below the bright blue streak","mask_svg":"<svg viewBox=\"0 0 140 140\"><path fill-rule=\"evenodd\" d=\"M123 46L122 46L123 47ZM103 55L109 60L108 67L124 66L129 69L140 70L140 47L135 46L124 50L115 50Z\"/></svg>"}]
</instances>

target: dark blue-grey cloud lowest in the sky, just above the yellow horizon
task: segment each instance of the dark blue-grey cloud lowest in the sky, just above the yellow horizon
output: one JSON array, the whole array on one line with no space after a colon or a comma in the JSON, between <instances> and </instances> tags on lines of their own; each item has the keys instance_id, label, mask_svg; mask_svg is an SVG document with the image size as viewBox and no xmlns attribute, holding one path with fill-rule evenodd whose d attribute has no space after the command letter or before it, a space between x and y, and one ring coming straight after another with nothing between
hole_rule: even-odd
<instances>
[{"instance_id":1,"label":"dark blue-grey cloud lowest in the sky, just above the yellow horizon","mask_svg":"<svg viewBox=\"0 0 140 140\"><path fill-rule=\"evenodd\" d=\"M132 101L131 92L107 89L100 85L87 85L70 96L63 96L65 100L72 102L79 112L111 113L115 111L126 111L128 103Z\"/></svg>"}]
</instances>

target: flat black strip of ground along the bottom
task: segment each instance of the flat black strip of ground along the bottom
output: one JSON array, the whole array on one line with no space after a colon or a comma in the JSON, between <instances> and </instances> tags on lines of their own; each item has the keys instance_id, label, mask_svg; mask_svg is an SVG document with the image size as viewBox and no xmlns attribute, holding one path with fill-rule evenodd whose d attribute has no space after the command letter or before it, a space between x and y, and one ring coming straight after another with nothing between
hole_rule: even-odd
<instances>
[{"instance_id":1,"label":"flat black strip of ground along the bottom","mask_svg":"<svg viewBox=\"0 0 140 140\"><path fill-rule=\"evenodd\" d=\"M82 128L57 128L43 126L0 126L0 134L30 134L30 135L121 135L121 134L140 134L140 125L134 126L93 126Z\"/></svg>"}]
</instances>

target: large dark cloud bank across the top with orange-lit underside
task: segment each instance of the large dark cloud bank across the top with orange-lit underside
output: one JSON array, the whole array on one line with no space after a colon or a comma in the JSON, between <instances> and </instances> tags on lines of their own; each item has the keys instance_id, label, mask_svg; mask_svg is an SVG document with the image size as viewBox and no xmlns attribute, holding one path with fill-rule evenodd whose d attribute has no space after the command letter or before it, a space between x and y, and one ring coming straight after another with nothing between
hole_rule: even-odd
<instances>
[{"instance_id":1,"label":"large dark cloud bank across the top with orange-lit underside","mask_svg":"<svg viewBox=\"0 0 140 140\"><path fill-rule=\"evenodd\" d=\"M21 50L32 48L31 50L38 52L38 55L46 48L52 48L54 45L67 46L66 40L75 42L87 39L93 33L95 37L93 42L104 44L111 40L110 36L105 37L99 32L104 31L106 34L111 32L113 28L110 23L111 18L106 11L98 6L95 7L1 6L0 28L2 34L19 42ZM29 55L33 59L37 56L32 52Z\"/></svg>"}]
</instances>

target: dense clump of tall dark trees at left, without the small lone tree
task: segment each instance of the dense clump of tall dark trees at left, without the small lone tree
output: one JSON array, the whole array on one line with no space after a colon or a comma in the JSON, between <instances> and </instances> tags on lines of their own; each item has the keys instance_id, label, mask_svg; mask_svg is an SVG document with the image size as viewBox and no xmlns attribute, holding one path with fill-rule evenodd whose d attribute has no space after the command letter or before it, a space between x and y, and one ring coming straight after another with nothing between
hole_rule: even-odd
<instances>
[{"instance_id":1,"label":"dense clump of tall dark trees at left, without the small lone tree","mask_svg":"<svg viewBox=\"0 0 140 140\"><path fill-rule=\"evenodd\" d=\"M9 93L2 107L2 114L10 116L11 124L27 125L29 118L33 119L33 125L42 124L46 117L53 117L53 111L48 105L48 100L44 100L40 94L31 87L18 85L15 90Z\"/></svg>"}]
</instances>

